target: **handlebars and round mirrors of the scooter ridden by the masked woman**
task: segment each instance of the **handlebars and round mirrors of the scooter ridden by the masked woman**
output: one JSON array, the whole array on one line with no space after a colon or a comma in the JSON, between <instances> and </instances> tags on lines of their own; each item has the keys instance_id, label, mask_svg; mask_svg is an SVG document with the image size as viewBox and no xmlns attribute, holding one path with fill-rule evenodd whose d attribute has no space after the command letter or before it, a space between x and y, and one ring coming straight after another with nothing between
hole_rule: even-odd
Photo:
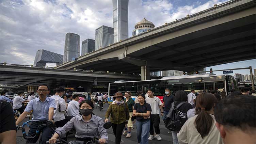
<instances>
[{"instance_id":1,"label":"handlebars and round mirrors of the scooter ridden by the masked woman","mask_svg":"<svg viewBox=\"0 0 256 144\"><path fill-rule=\"evenodd\" d=\"M54 124L51 122L51 121L47 121L47 126L48 127L50 127L51 129L53 129L54 130L54 132L56 132L57 134L58 134L58 132L57 131L55 131L55 126L54 126ZM103 130L105 130L105 129L109 129L109 128L111 128L111 126L112 126L112 124L111 124L111 122L107 122L107 123L105 123L104 125L103 125ZM103 130L101 130L100 132L102 132ZM96 138L96 136L100 133L100 132L98 132L95 136L94 136L94 138L91 140L91 141L88 141L86 144L99 144L99 140ZM59 134L60 135L60 134ZM47 144L49 144L49 141L47 141L46 142ZM107 144L108 142L106 141L105 142L105 144ZM64 140L62 140L61 138L59 138L58 140L57 140L57 143L55 143L55 144L84 144L84 142L83 141L70 141L69 143L67 142L67 141L64 141Z\"/></svg>"}]
</instances>

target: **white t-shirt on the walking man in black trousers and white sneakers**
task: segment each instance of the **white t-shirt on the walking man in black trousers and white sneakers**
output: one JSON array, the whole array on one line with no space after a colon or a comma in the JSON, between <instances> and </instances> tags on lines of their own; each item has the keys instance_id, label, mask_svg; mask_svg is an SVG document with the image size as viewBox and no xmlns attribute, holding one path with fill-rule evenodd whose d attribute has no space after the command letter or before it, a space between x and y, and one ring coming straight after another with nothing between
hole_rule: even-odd
<instances>
[{"instance_id":1,"label":"white t-shirt on the walking man in black trousers and white sneakers","mask_svg":"<svg viewBox=\"0 0 256 144\"><path fill-rule=\"evenodd\" d=\"M152 109L151 114L160 114L159 106L162 105L162 102L158 97L146 97L146 102L150 104Z\"/></svg>"}]
</instances>

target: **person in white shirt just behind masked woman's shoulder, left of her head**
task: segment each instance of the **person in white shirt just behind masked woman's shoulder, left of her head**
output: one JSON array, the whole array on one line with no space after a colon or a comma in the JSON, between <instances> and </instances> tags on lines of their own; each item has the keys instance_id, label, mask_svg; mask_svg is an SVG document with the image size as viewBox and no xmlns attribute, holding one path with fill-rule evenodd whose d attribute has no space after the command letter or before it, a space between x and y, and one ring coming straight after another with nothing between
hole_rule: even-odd
<instances>
[{"instance_id":1,"label":"person in white shirt just behind masked woman's shoulder, left of her head","mask_svg":"<svg viewBox=\"0 0 256 144\"><path fill-rule=\"evenodd\" d=\"M69 102L67 106L67 115L68 116L80 116L79 115L79 95L74 94L72 96L72 100Z\"/></svg>"}]
</instances>

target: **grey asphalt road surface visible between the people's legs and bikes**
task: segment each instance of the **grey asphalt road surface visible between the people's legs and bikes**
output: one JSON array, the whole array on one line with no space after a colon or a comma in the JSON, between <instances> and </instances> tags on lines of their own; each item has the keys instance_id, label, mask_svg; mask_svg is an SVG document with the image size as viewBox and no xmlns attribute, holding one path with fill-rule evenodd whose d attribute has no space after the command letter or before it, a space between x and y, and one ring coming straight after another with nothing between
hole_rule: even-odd
<instances>
[{"instance_id":1,"label":"grey asphalt road surface visible between the people's legs and bikes","mask_svg":"<svg viewBox=\"0 0 256 144\"><path fill-rule=\"evenodd\" d=\"M105 113L108 109L108 104L105 104L103 106L103 111L99 111L99 109L95 109L93 112L97 115L100 116L102 119L105 119ZM161 118L161 117L160 117ZM25 118L24 121L22 121L22 123L28 121L28 118ZM21 125L21 124L20 124ZM131 138L126 138L125 135L122 136L122 140L124 141L125 144L137 144L137 130L136 130L136 124L134 124L134 128L131 131ZM26 128L26 132L28 132L29 128ZM114 144L115 143L115 136L113 133L112 128L107 130L108 134L109 134L109 140L108 143L109 144ZM162 138L161 141L158 141L157 139L153 139L151 141L149 141L149 144L173 144L172 141L172 134L171 133L167 133L168 130L164 127L163 121L161 120L160 122L160 136ZM70 134L68 135L68 142L69 141L73 141L75 140L75 134ZM17 131L17 144L26 144L26 140L22 137L22 132L21 130Z\"/></svg>"}]
</instances>

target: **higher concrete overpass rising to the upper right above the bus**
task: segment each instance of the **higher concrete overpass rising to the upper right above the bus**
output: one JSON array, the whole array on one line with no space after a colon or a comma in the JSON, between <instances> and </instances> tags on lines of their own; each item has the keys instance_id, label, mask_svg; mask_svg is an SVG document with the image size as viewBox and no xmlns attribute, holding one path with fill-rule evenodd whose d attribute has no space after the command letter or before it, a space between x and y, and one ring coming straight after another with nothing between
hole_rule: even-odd
<instances>
[{"instance_id":1,"label":"higher concrete overpass rising to the upper right above the bus","mask_svg":"<svg viewBox=\"0 0 256 144\"><path fill-rule=\"evenodd\" d=\"M233 0L91 52L58 68L141 74L255 59L255 0Z\"/></svg>"}]
</instances>

